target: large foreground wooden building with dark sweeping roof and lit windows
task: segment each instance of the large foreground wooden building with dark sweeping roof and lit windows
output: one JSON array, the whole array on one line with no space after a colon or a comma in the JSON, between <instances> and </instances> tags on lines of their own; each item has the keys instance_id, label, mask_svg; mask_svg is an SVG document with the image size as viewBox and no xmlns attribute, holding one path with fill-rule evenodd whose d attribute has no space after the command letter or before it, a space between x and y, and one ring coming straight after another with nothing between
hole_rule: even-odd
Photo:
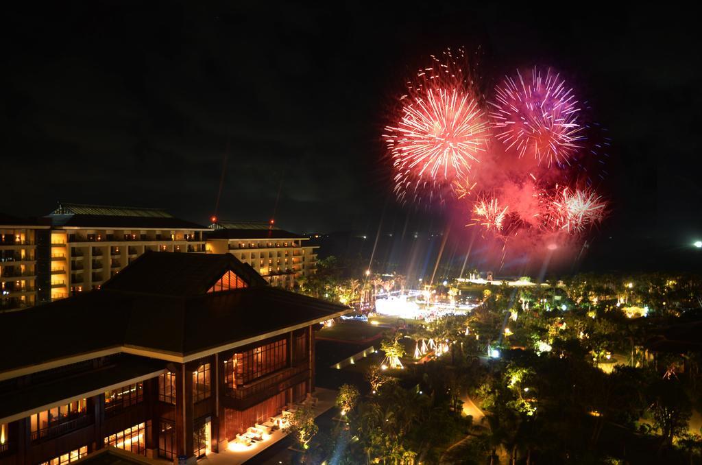
<instances>
[{"instance_id":1,"label":"large foreground wooden building with dark sweeping roof and lit windows","mask_svg":"<svg viewBox=\"0 0 702 465\"><path fill-rule=\"evenodd\" d=\"M312 400L314 329L349 311L231 254L147 252L99 290L2 313L0 465L263 450Z\"/></svg>"}]
</instances>

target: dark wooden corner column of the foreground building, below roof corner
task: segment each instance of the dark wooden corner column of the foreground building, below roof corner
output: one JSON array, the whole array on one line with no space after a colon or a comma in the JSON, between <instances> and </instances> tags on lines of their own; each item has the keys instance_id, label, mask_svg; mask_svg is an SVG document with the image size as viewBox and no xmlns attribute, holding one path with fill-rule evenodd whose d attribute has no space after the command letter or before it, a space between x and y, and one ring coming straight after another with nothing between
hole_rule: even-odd
<instances>
[{"instance_id":1,"label":"dark wooden corner column of the foreground building, below roof corner","mask_svg":"<svg viewBox=\"0 0 702 465\"><path fill-rule=\"evenodd\" d=\"M180 461L179 457L185 457L187 465L197 463L192 447L192 414L192 373L184 364L179 364L176 368L176 465Z\"/></svg>"}]
</instances>

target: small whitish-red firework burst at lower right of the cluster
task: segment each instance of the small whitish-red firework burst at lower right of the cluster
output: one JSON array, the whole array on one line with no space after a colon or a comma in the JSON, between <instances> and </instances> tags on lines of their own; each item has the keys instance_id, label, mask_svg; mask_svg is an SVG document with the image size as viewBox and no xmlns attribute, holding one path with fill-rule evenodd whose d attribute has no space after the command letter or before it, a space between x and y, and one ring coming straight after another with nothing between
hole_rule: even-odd
<instances>
[{"instance_id":1,"label":"small whitish-red firework burst at lower right of the cluster","mask_svg":"<svg viewBox=\"0 0 702 465\"><path fill-rule=\"evenodd\" d=\"M562 188L552 201L550 216L557 230L583 232L607 216L607 201L591 188Z\"/></svg>"}]
</instances>

